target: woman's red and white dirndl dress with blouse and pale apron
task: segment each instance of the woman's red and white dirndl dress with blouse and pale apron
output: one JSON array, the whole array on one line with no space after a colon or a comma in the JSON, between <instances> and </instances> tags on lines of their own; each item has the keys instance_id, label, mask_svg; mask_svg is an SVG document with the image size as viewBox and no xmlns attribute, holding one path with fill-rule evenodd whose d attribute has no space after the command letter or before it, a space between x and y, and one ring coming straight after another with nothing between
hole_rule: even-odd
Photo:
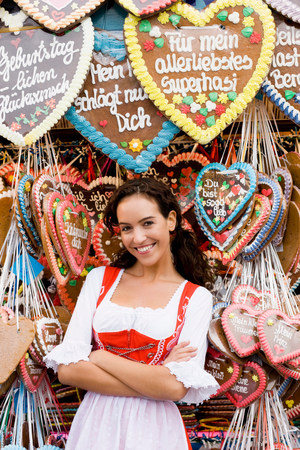
<instances>
[{"instance_id":1,"label":"woman's red and white dirndl dress with blouse and pale apron","mask_svg":"<svg viewBox=\"0 0 300 450\"><path fill-rule=\"evenodd\" d=\"M146 364L161 364L173 346L190 341L197 356L170 362L170 372L189 388L181 399L201 403L219 385L204 367L212 296L204 287L181 283L164 308L131 308L110 301L124 270L98 267L86 278L61 345L45 357L48 367L88 361L105 348ZM74 418L67 450L187 450L181 415L172 401L87 392Z\"/></svg>"}]
</instances>

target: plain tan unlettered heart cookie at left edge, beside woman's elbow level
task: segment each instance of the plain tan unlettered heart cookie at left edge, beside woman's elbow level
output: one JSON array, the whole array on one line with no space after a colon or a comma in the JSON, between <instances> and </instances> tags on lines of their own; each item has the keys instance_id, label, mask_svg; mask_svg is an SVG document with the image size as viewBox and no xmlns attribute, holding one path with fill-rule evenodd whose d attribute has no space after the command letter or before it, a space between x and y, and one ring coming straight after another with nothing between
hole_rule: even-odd
<instances>
[{"instance_id":1,"label":"plain tan unlettered heart cookie at left edge, beside woman's elbow level","mask_svg":"<svg viewBox=\"0 0 300 450\"><path fill-rule=\"evenodd\" d=\"M4 323L0 320L0 357L5 364L0 365L0 383L4 383L16 369L35 335L34 323L19 317Z\"/></svg>"}]
</instances>

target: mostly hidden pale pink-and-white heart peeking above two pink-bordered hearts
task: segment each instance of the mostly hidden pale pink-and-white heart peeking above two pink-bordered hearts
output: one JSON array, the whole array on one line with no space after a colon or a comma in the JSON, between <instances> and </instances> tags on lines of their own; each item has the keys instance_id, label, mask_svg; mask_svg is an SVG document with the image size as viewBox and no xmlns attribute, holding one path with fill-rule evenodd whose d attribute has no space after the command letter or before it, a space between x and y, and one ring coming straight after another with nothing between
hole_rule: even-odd
<instances>
[{"instance_id":1,"label":"mostly hidden pale pink-and-white heart peeking above two pink-bordered hearts","mask_svg":"<svg viewBox=\"0 0 300 450\"><path fill-rule=\"evenodd\" d=\"M232 291L231 300L232 303L243 303L260 311L279 307L277 298L270 291L258 291L249 284L236 286Z\"/></svg>"}]
</instances>

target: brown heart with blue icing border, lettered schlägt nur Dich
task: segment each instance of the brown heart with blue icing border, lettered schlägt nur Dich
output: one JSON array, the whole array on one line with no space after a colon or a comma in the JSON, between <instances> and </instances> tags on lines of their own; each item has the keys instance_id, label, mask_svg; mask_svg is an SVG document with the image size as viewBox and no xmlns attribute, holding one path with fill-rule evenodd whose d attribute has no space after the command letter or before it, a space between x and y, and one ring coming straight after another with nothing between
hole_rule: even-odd
<instances>
[{"instance_id":1,"label":"brown heart with blue icing border, lettered schl\u00e4gt nur Dich","mask_svg":"<svg viewBox=\"0 0 300 450\"><path fill-rule=\"evenodd\" d=\"M106 32L96 32L90 72L66 118L96 148L137 173L145 172L179 131L141 88L124 41ZM104 128L99 118L106 120Z\"/></svg>"}]
</instances>

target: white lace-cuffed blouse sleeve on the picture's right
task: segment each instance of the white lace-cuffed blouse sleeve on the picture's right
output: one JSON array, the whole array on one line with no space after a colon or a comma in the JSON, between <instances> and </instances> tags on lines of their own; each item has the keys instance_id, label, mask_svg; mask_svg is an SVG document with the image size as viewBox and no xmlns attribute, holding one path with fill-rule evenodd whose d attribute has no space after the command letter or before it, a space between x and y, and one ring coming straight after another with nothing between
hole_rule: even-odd
<instances>
[{"instance_id":1,"label":"white lace-cuffed blouse sleeve on the picture's right","mask_svg":"<svg viewBox=\"0 0 300 450\"><path fill-rule=\"evenodd\" d=\"M207 331L212 317L212 295L204 287L198 287L190 298L185 322L178 343L190 341L190 346L197 347L197 356L189 361L171 361L166 364L170 372L189 388L180 400L184 403L202 403L214 394L219 384L215 378L204 370L207 351Z\"/></svg>"}]
</instances>

